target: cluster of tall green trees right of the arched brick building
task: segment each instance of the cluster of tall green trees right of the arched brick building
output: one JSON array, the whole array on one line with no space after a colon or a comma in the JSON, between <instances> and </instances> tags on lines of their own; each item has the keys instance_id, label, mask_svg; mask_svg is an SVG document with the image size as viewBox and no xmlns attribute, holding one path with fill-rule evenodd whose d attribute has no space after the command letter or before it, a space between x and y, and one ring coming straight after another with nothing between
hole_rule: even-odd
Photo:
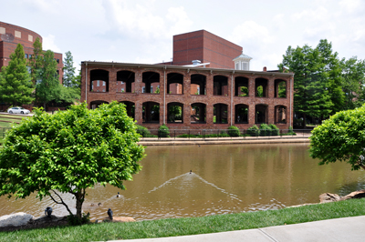
<instances>
[{"instance_id":1,"label":"cluster of tall green trees right of the arched brick building","mask_svg":"<svg viewBox=\"0 0 365 242\"><path fill-rule=\"evenodd\" d=\"M339 59L326 39L312 48L288 46L281 70L295 73L294 111L326 118L341 110L364 104L364 61Z\"/></svg>"}]
</instances>

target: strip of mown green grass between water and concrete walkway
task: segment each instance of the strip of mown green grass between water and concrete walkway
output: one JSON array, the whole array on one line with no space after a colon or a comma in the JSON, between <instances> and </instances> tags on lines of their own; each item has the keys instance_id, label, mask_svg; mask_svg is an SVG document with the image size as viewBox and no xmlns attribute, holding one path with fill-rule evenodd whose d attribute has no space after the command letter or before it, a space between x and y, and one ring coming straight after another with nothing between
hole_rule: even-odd
<instances>
[{"instance_id":1,"label":"strip of mown green grass between water and concrete walkway","mask_svg":"<svg viewBox=\"0 0 365 242\"><path fill-rule=\"evenodd\" d=\"M175 237L258 227L282 226L338 217L365 215L365 199L288 207L251 213L184 217L134 223L101 223L1 232L0 241L106 241L147 237Z\"/></svg>"}]
</instances>

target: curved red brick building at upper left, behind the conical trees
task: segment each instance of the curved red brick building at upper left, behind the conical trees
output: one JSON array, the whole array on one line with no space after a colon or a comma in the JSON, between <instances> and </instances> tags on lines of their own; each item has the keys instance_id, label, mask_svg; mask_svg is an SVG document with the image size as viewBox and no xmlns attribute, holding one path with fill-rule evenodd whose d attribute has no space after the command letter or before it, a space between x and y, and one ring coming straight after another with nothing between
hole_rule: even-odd
<instances>
[{"instance_id":1,"label":"curved red brick building at upper left, behind the conical trees","mask_svg":"<svg viewBox=\"0 0 365 242\"><path fill-rule=\"evenodd\" d=\"M39 38L42 43L42 36L36 34L36 32L28 30L24 27L10 25L0 22L0 71L2 66L7 66L10 58L9 56L16 50L16 45L23 45L26 59L29 59L33 55L33 44ZM59 76L59 82L62 83L63 77L63 61L62 54L55 53L55 59L57 61L57 74Z\"/></svg>"}]
</instances>

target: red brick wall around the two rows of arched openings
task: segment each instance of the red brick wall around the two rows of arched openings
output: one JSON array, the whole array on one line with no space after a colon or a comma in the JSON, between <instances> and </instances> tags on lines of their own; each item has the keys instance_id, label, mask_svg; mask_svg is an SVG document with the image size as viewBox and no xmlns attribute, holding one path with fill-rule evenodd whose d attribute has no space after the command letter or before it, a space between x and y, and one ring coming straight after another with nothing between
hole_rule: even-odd
<instances>
[{"instance_id":1,"label":"red brick wall around the two rows of arched openings","mask_svg":"<svg viewBox=\"0 0 365 242\"><path fill-rule=\"evenodd\" d=\"M109 72L109 90L105 93L95 93L89 91L90 71L102 69ZM119 71L131 71L135 74L134 93L116 92L116 77ZM144 72L156 72L160 75L160 94L141 93L142 74ZM166 80L165 76L169 73L179 73L183 75L183 94L174 95L165 93ZM193 74L206 76L206 95L191 94L191 77ZM81 65L81 101L87 100L90 104L95 101L110 103L113 100L118 102L131 102L135 106L135 119L137 124L147 126L148 128L158 128L162 124L167 123L167 105L169 103L180 103L183 105L183 123L167 123L170 128L209 128L209 129L224 129L228 126L235 125L240 128L248 128L255 125L255 106L265 105L266 120L268 124L275 123L276 106L287 107L287 123L277 124L279 128L288 128L292 126L293 114L293 75L281 73L267 72L247 72L214 69L214 68L187 68L183 66L159 66L159 65L132 65L132 64L115 64L115 63L97 63L97 62L82 62ZM226 87L227 96L214 95L214 76L226 76L228 78L228 86ZM88 77L87 77L88 76ZM232 91L235 86L235 77L243 76L248 78L249 96L235 96ZM265 78L267 80L267 96L255 96L255 79ZM287 82L287 97L275 97L275 80L280 79ZM88 81L87 81L88 80ZM233 86L232 86L233 85ZM145 102L155 102L160 105L160 121L158 123L143 123L142 106ZM192 124L192 104L202 103L206 106L206 123ZM214 124L214 105L224 104L227 106L227 123ZM243 104L248 106L248 124L235 124L235 106Z\"/></svg>"}]
</instances>

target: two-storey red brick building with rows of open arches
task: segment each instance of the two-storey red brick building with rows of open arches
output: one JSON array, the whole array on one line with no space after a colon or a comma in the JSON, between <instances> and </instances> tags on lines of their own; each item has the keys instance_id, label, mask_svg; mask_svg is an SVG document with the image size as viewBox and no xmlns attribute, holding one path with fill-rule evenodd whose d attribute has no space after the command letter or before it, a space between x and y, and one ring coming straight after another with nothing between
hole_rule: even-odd
<instances>
[{"instance_id":1,"label":"two-storey red brick building with rows of open arches","mask_svg":"<svg viewBox=\"0 0 365 242\"><path fill-rule=\"evenodd\" d=\"M81 76L81 101L91 108L122 102L137 124L151 129L162 124L176 129L292 126L294 74L84 61ZM105 83L104 91L95 91L98 82ZM171 93L175 84L182 86L181 94ZM160 86L159 93L151 91L153 85ZM193 85L199 86L199 92L192 92ZM172 114L172 107L182 115Z\"/></svg>"}]
</instances>

